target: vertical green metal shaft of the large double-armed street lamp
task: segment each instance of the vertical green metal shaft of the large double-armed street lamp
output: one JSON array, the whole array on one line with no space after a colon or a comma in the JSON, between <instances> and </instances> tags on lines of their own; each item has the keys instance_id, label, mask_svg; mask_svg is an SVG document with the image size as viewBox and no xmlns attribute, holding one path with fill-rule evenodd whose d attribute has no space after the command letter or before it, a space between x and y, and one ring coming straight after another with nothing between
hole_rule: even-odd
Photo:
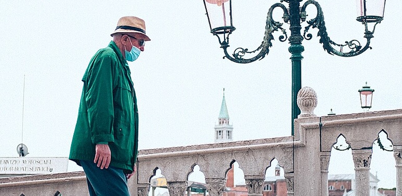
<instances>
[{"instance_id":1,"label":"vertical green metal shaft of the large double-armed street lamp","mask_svg":"<svg viewBox=\"0 0 402 196\"><path fill-rule=\"evenodd\" d=\"M292 54L292 136L294 135L294 119L300 114L300 109L297 106L297 93L301 89L301 52L304 51L304 47L301 45L303 36L300 34L300 1L289 1L289 21L291 34L289 36L289 52Z\"/></svg>"}]
</instances>

